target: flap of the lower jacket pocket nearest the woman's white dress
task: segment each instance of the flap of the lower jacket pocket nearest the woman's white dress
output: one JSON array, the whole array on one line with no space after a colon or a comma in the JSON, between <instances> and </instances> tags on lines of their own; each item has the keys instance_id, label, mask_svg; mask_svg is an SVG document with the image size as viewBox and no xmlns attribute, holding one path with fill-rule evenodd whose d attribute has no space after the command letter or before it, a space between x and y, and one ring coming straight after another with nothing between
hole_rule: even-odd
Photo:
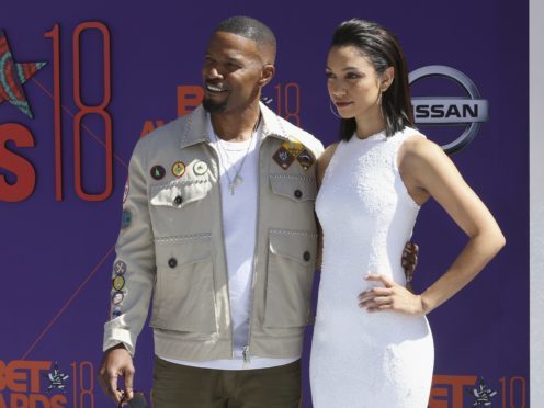
<instances>
[{"instance_id":1,"label":"flap of the lower jacket pocket nearest the woman's white dress","mask_svg":"<svg viewBox=\"0 0 544 408\"><path fill-rule=\"evenodd\" d=\"M271 229L270 252L308 265L316 259L317 233L297 229Z\"/></svg>"}]
</instances>

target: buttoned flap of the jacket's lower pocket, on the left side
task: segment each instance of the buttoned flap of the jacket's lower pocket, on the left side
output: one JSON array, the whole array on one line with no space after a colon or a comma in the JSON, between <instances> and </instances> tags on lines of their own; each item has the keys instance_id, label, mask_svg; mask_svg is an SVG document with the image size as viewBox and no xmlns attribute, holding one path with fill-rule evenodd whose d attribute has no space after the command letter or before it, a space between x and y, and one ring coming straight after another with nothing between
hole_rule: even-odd
<instances>
[{"instance_id":1,"label":"buttoned flap of the jacket's lower pocket, on the left side","mask_svg":"<svg viewBox=\"0 0 544 408\"><path fill-rule=\"evenodd\" d=\"M155 239L157 265L175 268L212 259L212 235L194 234Z\"/></svg>"}]
</instances>

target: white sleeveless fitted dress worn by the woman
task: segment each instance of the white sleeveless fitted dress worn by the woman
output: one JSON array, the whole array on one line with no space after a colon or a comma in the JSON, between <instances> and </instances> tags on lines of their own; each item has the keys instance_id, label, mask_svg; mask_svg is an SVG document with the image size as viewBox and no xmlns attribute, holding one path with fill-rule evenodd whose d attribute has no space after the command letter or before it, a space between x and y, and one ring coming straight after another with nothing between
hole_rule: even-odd
<instances>
[{"instance_id":1,"label":"white sleeveless fitted dress worn by the woman","mask_svg":"<svg viewBox=\"0 0 544 408\"><path fill-rule=\"evenodd\" d=\"M432 381L434 348L424 316L369 313L358 295L379 273L406 284L400 258L419 206L397 166L406 128L386 138L341 141L316 200L324 258L311 343L315 408L423 408Z\"/></svg>"}]
</instances>

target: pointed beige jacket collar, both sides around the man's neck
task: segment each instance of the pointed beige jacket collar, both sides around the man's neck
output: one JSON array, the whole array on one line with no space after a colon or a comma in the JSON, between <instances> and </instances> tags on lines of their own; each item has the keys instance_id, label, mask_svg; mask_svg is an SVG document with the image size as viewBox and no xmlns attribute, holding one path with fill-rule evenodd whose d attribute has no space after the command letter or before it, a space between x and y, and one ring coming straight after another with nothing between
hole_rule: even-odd
<instances>
[{"instance_id":1,"label":"pointed beige jacket collar, both sides around the man's neck","mask_svg":"<svg viewBox=\"0 0 544 408\"><path fill-rule=\"evenodd\" d=\"M259 102L262 114L262 137L277 137L287 140L288 136L280 117L262 102ZM199 143L212 143L212 137L207 133L206 111L200 104L186 118L185 126L181 131L180 148L196 145Z\"/></svg>"}]
</instances>

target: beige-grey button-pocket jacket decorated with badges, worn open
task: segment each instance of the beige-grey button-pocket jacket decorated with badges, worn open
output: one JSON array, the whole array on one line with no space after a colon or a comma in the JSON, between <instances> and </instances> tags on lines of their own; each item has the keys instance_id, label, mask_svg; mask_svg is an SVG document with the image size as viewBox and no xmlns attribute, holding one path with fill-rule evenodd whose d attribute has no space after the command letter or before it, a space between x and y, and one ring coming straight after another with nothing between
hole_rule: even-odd
<instances>
[{"instance_id":1,"label":"beige-grey button-pocket jacket decorated with badges, worn open","mask_svg":"<svg viewBox=\"0 0 544 408\"><path fill-rule=\"evenodd\" d=\"M310 313L322 145L261 103L259 206L249 355L294 358ZM128 170L104 350L135 352L152 299L160 355L233 356L219 168L199 106L140 139ZM240 242L245 245L245 242Z\"/></svg>"}]
</instances>

